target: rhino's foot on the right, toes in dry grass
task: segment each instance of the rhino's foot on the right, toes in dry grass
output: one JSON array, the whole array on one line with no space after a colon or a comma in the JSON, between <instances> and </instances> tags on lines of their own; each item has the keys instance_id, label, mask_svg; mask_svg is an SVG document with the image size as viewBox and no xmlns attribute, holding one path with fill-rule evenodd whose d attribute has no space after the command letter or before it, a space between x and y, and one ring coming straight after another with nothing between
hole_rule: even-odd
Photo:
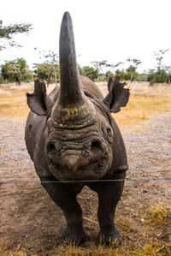
<instances>
[{"instance_id":1,"label":"rhino's foot on the right, toes in dry grass","mask_svg":"<svg viewBox=\"0 0 171 256\"><path fill-rule=\"evenodd\" d=\"M105 246L119 247L121 245L120 231L115 228L114 230L100 231L97 236L97 244L103 244Z\"/></svg>"}]
</instances>

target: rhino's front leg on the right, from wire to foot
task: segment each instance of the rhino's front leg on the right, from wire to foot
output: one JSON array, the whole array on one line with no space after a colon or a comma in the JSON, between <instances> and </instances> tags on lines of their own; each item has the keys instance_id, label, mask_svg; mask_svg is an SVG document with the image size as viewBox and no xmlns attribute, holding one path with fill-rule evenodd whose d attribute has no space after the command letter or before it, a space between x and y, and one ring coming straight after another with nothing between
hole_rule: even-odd
<instances>
[{"instance_id":1,"label":"rhino's front leg on the right, from wire to foot","mask_svg":"<svg viewBox=\"0 0 171 256\"><path fill-rule=\"evenodd\" d=\"M118 172L113 179L125 179L126 173ZM98 194L98 211L97 217L100 226L100 231L97 236L97 242L104 245L111 244L116 241L121 244L120 231L115 227L115 208L121 199L124 182L103 182L92 188Z\"/></svg>"}]
</instances>

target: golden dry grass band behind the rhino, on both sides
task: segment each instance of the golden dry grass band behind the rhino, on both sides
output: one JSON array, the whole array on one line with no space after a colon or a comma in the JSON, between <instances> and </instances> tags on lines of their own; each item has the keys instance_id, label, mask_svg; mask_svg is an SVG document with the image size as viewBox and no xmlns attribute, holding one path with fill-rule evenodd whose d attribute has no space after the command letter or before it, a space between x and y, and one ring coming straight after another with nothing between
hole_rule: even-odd
<instances>
[{"instance_id":1,"label":"golden dry grass band behind the rhino, on both sides","mask_svg":"<svg viewBox=\"0 0 171 256\"><path fill-rule=\"evenodd\" d=\"M103 95L107 94L106 84L98 85ZM53 87L53 86L52 86ZM119 125L137 124L150 118L152 113L171 110L171 86L149 86L130 84L130 98L127 107L113 114ZM0 116L27 118L26 92L32 92L33 85L0 86ZM50 89L49 89L50 90Z\"/></svg>"}]
</instances>

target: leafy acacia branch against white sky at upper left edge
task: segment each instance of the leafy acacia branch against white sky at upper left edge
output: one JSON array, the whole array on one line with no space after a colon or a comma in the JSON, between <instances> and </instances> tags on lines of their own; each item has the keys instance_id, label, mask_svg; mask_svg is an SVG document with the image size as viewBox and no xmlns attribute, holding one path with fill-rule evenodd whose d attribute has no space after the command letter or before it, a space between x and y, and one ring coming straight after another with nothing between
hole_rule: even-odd
<instances>
[{"instance_id":1,"label":"leafy acacia branch against white sky at upper left edge","mask_svg":"<svg viewBox=\"0 0 171 256\"><path fill-rule=\"evenodd\" d=\"M21 47L21 45L16 45L15 41L13 41L12 39L16 34L28 33L31 29L32 24L30 23L3 26L3 21L0 21L0 51L5 49L7 45Z\"/></svg>"}]
</instances>

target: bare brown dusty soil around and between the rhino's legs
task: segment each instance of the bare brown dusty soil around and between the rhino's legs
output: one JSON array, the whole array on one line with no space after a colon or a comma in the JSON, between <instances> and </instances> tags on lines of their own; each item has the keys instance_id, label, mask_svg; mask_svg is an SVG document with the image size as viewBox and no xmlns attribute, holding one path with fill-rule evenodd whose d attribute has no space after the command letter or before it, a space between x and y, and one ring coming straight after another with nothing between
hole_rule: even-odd
<instances>
[{"instance_id":1,"label":"bare brown dusty soil around and between the rhino's legs","mask_svg":"<svg viewBox=\"0 0 171 256\"><path fill-rule=\"evenodd\" d=\"M117 207L116 223L123 237L126 233L123 234L120 225L121 215L133 217L132 229L139 233L138 223L143 225L144 219L137 213L138 207L170 206L170 180L163 179L171 179L170 123L171 112L166 112L142 122L137 132L121 127L130 166L127 178L137 179L126 182ZM11 248L17 243L27 243L30 249L45 250L61 242L60 231L65 219L38 183L25 146L24 128L22 120L0 118L0 181L4 182L0 183L0 237ZM145 181L145 178L151 180ZM85 187L78 198L85 217L85 230L93 239L98 230L97 195Z\"/></svg>"}]
</instances>

